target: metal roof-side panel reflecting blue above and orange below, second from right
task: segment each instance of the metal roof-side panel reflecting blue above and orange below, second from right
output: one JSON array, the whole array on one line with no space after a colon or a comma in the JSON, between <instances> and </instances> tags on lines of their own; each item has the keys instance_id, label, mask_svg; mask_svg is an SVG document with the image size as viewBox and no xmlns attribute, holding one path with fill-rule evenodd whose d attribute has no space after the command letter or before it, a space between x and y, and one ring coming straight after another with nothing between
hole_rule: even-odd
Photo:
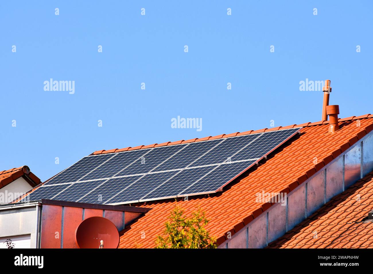
<instances>
[{"instance_id":1,"label":"metal roof-side panel reflecting blue above and orange below, second from right","mask_svg":"<svg viewBox=\"0 0 373 274\"><path fill-rule=\"evenodd\" d=\"M361 142L345 154L345 189L360 179Z\"/></svg>"}]
</instances>

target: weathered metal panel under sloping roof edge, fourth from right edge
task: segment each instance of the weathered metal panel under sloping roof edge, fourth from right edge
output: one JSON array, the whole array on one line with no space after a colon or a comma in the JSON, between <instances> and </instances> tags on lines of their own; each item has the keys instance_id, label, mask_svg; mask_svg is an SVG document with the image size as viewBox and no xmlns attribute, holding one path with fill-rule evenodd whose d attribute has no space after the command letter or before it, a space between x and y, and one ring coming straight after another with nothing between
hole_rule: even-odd
<instances>
[{"instance_id":1,"label":"weathered metal panel under sloping roof edge, fourth from right edge","mask_svg":"<svg viewBox=\"0 0 373 274\"><path fill-rule=\"evenodd\" d=\"M307 216L322 207L325 202L325 170L307 182Z\"/></svg>"}]
</instances>

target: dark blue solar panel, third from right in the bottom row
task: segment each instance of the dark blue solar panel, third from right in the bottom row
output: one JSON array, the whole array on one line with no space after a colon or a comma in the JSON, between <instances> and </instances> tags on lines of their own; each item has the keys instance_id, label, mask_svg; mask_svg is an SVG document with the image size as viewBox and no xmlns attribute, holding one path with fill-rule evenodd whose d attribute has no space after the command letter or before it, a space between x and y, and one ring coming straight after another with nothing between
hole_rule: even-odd
<instances>
[{"instance_id":1,"label":"dark blue solar panel, third from right in the bottom row","mask_svg":"<svg viewBox=\"0 0 373 274\"><path fill-rule=\"evenodd\" d=\"M160 173L149 173L140 180L134 182L131 186L120 192L119 195L113 197L105 204L113 204L119 202L134 202L140 200L144 195L151 190L168 180L178 171L166 171Z\"/></svg>"}]
</instances>

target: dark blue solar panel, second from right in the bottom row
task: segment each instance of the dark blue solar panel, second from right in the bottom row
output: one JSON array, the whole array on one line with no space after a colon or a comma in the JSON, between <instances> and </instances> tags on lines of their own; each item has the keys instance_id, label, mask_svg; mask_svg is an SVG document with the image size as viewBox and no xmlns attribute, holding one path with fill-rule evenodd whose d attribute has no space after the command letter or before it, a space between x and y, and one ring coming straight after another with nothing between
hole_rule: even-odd
<instances>
[{"instance_id":1,"label":"dark blue solar panel, second from right in the bottom row","mask_svg":"<svg viewBox=\"0 0 373 274\"><path fill-rule=\"evenodd\" d=\"M141 200L154 198L176 197L182 190L186 189L192 183L195 183L202 176L213 170L216 166L195 167L193 169L184 169L175 177L154 189L153 192L144 196Z\"/></svg>"}]
</instances>

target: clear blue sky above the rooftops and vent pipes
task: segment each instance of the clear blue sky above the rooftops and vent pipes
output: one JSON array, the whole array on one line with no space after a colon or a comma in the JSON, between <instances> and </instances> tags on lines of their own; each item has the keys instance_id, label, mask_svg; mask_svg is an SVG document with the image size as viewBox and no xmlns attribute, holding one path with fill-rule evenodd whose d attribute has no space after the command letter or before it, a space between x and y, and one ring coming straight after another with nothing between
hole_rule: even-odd
<instances>
[{"instance_id":1,"label":"clear blue sky above the rooftops and vent pipes","mask_svg":"<svg viewBox=\"0 0 373 274\"><path fill-rule=\"evenodd\" d=\"M44 181L99 149L316 122L306 78L332 81L340 117L373 113L372 1L154 2L0 2L0 170Z\"/></svg>"}]
</instances>

